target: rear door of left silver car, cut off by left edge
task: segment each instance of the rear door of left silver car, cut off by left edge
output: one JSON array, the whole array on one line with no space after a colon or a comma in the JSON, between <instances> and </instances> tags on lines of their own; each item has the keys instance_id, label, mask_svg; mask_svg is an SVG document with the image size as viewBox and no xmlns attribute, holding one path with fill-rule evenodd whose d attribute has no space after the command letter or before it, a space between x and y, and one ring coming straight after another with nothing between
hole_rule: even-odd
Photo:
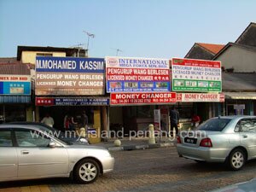
<instances>
[{"instance_id":1,"label":"rear door of left silver car, cut off by left edge","mask_svg":"<svg viewBox=\"0 0 256 192\"><path fill-rule=\"evenodd\" d=\"M18 159L10 129L0 130L0 180L17 177Z\"/></svg>"}]
</instances>

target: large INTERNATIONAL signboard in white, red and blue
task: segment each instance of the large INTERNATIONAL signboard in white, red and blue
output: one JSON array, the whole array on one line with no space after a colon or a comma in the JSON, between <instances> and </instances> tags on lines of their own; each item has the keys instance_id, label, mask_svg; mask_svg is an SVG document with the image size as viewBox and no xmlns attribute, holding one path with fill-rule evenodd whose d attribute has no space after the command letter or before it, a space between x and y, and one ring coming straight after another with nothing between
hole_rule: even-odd
<instances>
[{"instance_id":1,"label":"large INTERNATIONAL signboard in white, red and blue","mask_svg":"<svg viewBox=\"0 0 256 192\"><path fill-rule=\"evenodd\" d=\"M107 92L171 91L167 59L106 57Z\"/></svg>"}]
</instances>

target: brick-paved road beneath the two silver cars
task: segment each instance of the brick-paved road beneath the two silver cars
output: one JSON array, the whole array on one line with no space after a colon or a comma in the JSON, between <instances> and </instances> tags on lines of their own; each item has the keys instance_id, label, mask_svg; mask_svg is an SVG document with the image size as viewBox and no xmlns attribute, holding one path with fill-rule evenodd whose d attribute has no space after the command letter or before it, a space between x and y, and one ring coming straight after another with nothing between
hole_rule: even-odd
<instances>
[{"instance_id":1,"label":"brick-paved road beneath the two silver cars","mask_svg":"<svg viewBox=\"0 0 256 192\"><path fill-rule=\"evenodd\" d=\"M112 152L114 172L99 177L96 183L83 185L67 178L1 183L0 191L22 191L26 186L48 186L59 191L209 191L256 176L256 160L233 172L222 164L199 164L177 156L176 148ZM49 191L48 190L48 191ZM38 190L40 191L40 190ZM41 190L46 191L46 190Z\"/></svg>"}]
</instances>

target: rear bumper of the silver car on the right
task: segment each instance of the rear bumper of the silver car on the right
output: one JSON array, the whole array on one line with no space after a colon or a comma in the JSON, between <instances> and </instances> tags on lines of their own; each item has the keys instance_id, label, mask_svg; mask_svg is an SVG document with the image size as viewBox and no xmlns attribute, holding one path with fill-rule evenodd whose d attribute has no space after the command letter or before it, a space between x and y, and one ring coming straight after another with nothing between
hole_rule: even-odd
<instances>
[{"instance_id":1,"label":"rear bumper of the silver car on the right","mask_svg":"<svg viewBox=\"0 0 256 192\"><path fill-rule=\"evenodd\" d=\"M207 162L224 162L229 154L226 148L205 148L191 147L183 144L177 144L177 153L187 159L202 160Z\"/></svg>"}]
</instances>

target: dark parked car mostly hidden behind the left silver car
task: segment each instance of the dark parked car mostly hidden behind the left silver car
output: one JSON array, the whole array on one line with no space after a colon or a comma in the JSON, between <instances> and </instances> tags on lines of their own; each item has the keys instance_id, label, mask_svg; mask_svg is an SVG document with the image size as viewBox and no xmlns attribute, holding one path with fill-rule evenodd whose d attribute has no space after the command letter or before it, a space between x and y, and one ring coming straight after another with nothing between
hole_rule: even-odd
<instances>
[{"instance_id":1,"label":"dark parked car mostly hidden behind the left silver car","mask_svg":"<svg viewBox=\"0 0 256 192\"><path fill-rule=\"evenodd\" d=\"M55 129L49 125L39 123L39 122L30 122L30 121L16 121L7 123L8 125L29 125L36 126L41 131L46 131L49 134L54 134L55 137L61 137L67 143L81 143L81 144L89 144L89 141L85 137L79 137L74 134L70 134L70 132L62 132L60 130Z\"/></svg>"}]
</instances>

